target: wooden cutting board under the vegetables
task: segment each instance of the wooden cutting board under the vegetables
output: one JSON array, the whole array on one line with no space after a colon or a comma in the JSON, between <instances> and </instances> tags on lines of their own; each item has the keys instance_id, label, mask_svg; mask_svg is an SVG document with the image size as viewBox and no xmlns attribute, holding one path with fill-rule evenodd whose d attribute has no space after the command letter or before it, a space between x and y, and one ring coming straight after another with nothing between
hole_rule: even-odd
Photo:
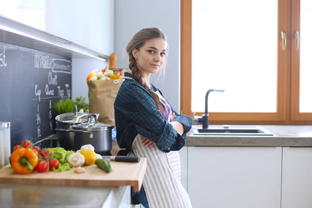
<instances>
[{"instance_id":1,"label":"wooden cutting board under the vegetables","mask_svg":"<svg viewBox=\"0 0 312 208\"><path fill-rule=\"evenodd\" d=\"M0 183L3 184L44 184L87 187L121 187L131 186L135 191L141 189L146 172L147 160L141 157L140 162L114 162L113 171L106 173L95 164L83 166L85 173L73 171L38 173L33 171L26 175L17 174L10 165L0 169Z\"/></svg>"}]
</instances>

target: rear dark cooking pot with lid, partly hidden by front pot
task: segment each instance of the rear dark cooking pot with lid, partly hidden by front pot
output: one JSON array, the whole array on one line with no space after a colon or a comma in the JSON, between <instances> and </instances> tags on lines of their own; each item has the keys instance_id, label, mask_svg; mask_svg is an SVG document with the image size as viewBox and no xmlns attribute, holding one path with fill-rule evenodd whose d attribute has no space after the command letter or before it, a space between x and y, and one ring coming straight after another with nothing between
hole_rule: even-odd
<instances>
[{"instance_id":1,"label":"rear dark cooking pot with lid, partly hidden by front pot","mask_svg":"<svg viewBox=\"0 0 312 208\"><path fill-rule=\"evenodd\" d=\"M85 112L69 112L67 114L60 114L55 117L56 129L72 130L73 125L84 123L88 121L89 113ZM73 132L56 131L58 137L58 144L65 150L73 150Z\"/></svg>"}]
</instances>

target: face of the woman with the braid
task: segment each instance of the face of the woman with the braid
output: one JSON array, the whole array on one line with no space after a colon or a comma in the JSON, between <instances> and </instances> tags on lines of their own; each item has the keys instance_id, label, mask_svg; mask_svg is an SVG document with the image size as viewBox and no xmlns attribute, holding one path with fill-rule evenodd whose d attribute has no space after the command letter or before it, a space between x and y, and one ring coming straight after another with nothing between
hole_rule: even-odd
<instances>
[{"instance_id":1,"label":"face of the woman with the braid","mask_svg":"<svg viewBox=\"0 0 312 208\"><path fill-rule=\"evenodd\" d=\"M138 69L142 72L144 78L148 79L150 73L157 73L164 64L166 41L162 38L147 40L139 51L132 49L132 55L137 60Z\"/></svg>"}]
</instances>

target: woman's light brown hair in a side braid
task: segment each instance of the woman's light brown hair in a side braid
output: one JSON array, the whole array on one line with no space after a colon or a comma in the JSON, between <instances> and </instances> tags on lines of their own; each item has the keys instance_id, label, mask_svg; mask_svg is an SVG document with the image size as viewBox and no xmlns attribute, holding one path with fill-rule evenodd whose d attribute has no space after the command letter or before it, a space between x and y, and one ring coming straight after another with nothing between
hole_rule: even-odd
<instances>
[{"instance_id":1,"label":"woman's light brown hair in a side braid","mask_svg":"<svg viewBox=\"0 0 312 208\"><path fill-rule=\"evenodd\" d=\"M148 83L144 77L141 74L141 71L137 68L137 60L135 60L135 57L132 54L133 49L137 49L139 51L141 49L141 46L144 46L147 40L151 40L154 38L161 38L166 42L166 35L162 33L158 28L144 28L141 31L137 32L130 42L128 43L125 51L127 51L128 54L128 61L129 61L129 69L132 71L132 75L137 80L137 82L142 85L145 89L150 89L150 83ZM168 44L167 44L168 48ZM168 50L167 50L168 52ZM165 59L166 63L166 59ZM165 64L163 65L163 71L165 71L166 67Z\"/></svg>"}]
</instances>

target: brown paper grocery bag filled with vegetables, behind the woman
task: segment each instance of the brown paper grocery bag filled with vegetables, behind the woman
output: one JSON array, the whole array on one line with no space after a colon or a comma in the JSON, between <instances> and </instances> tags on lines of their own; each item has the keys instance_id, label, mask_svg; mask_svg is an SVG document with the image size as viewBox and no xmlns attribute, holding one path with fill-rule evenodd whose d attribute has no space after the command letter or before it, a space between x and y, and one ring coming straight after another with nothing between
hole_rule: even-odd
<instances>
[{"instance_id":1,"label":"brown paper grocery bag filled with vegetables, behind the woman","mask_svg":"<svg viewBox=\"0 0 312 208\"><path fill-rule=\"evenodd\" d=\"M99 114L99 122L115 126L114 101L122 83L114 83L114 80L87 81L89 113Z\"/></svg>"}]
</instances>

